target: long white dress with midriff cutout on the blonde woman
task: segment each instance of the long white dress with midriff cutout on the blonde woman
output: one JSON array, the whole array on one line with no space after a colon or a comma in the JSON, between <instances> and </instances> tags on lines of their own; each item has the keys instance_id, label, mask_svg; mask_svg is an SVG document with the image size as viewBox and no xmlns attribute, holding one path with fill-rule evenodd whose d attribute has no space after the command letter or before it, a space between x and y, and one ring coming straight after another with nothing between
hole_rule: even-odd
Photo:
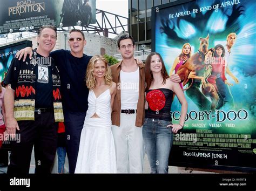
<instances>
[{"instance_id":1,"label":"long white dress with midriff cutout on the blonde woman","mask_svg":"<svg viewBox=\"0 0 256 191\"><path fill-rule=\"evenodd\" d=\"M110 89L104 91L98 98L90 90L88 103L75 173L116 173L116 152L111 131ZM91 118L95 113L99 118Z\"/></svg>"}]
</instances>

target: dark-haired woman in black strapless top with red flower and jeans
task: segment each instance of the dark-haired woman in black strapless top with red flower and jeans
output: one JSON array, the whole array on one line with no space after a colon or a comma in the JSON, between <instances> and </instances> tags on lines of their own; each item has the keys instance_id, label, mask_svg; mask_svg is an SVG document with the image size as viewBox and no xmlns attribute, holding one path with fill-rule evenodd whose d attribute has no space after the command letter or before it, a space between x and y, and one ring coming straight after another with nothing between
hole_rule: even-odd
<instances>
[{"instance_id":1,"label":"dark-haired woman in black strapless top with red flower and jeans","mask_svg":"<svg viewBox=\"0 0 256 191\"><path fill-rule=\"evenodd\" d=\"M151 173L168 173L168 160L173 133L183 128L187 101L178 83L173 83L157 52L147 56L145 64L146 115L143 125L143 141L149 158ZM179 124L171 122L172 96L175 93L181 103Z\"/></svg>"}]
</instances>

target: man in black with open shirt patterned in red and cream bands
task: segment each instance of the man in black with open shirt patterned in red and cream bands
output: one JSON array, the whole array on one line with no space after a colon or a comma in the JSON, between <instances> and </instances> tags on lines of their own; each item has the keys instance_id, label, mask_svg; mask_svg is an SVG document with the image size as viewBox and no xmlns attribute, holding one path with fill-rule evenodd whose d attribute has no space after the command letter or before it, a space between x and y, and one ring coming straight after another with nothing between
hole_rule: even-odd
<instances>
[{"instance_id":1,"label":"man in black with open shirt patterned in red and cream bands","mask_svg":"<svg viewBox=\"0 0 256 191\"><path fill-rule=\"evenodd\" d=\"M56 38L55 26L39 29L33 59L12 59L4 79L6 131L12 137L10 175L29 173L33 146L35 173L50 173L57 148L57 122L64 120L59 70L49 57Z\"/></svg>"}]
</instances>

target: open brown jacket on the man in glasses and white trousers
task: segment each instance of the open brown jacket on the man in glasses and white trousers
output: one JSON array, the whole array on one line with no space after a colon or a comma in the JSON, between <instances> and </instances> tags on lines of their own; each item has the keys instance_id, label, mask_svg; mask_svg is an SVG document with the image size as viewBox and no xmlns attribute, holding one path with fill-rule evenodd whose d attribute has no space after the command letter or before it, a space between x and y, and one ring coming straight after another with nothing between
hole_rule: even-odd
<instances>
[{"instance_id":1,"label":"open brown jacket on the man in glasses and white trousers","mask_svg":"<svg viewBox=\"0 0 256 191\"><path fill-rule=\"evenodd\" d=\"M113 81L117 83L117 95L114 97L113 110L111 114L112 125L120 126L120 112L121 112L121 90L120 90L120 71L123 61L110 66ZM139 66L139 99L137 104L136 127L142 127L145 117L145 64L138 64Z\"/></svg>"}]
</instances>

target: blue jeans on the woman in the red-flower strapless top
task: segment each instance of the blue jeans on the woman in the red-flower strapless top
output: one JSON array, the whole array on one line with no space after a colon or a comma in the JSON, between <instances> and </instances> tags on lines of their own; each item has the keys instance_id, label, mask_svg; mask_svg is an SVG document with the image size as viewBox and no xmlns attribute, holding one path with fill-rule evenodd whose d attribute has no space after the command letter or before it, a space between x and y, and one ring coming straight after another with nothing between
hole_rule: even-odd
<instances>
[{"instance_id":1,"label":"blue jeans on the woman in the red-flower strapless top","mask_svg":"<svg viewBox=\"0 0 256 191\"><path fill-rule=\"evenodd\" d=\"M172 147L171 121L146 118L142 133L149 158L151 173L168 173L169 154Z\"/></svg>"}]
</instances>

